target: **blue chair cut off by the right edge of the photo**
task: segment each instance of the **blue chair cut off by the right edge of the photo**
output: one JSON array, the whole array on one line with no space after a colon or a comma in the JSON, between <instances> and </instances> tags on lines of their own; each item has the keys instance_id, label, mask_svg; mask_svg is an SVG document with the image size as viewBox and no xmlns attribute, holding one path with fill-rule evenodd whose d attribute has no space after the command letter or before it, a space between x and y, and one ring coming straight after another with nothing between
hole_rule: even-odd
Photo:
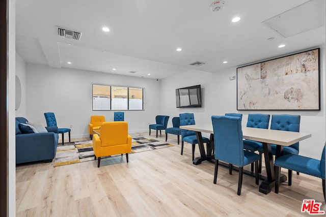
<instances>
[{"instance_id":1,"label":"blue chair cut off by the right edge of the photo","mask_svg":"<svg viewBox=\"0 0 326 217\"><path fill-rule=\"evenodd\" d=\"M325 143L326 145L326 143ZM288 169L289 181L292 184L292 170L316 176L322 179L322 192L325 197L325 145L322 149L321 159L316 160L298 154L285 154L275 160L275 193L279 193L281 167Z\"/></svg>"}]
</instances>

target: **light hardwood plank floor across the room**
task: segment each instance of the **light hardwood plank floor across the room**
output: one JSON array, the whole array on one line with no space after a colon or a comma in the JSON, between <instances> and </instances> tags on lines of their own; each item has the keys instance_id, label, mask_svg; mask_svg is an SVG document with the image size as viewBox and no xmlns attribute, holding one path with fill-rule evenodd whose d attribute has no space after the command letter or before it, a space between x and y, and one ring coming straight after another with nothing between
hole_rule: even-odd
<instances>
[{"instance_id":1,"label":"light hardwood plank floor across the room","mask_svg":"<svg viewBox=\"0 0 326 217\"><path fill-rule=\"evenodd\" d=\"M158 139L165 140L163 132ZM175 146L130 154L129 163L125 155L103 159L100 168L97 161L18 165L16 215L308 216L301 212L304 199L322 202L326 210L319 178L293 172L292 186L285 182L279 194L264 195L254 177L243 175L238 196L236 171L229 175L228 168L219 167L213 184L214 164L193 165L190 144L181 156L177 137L169 134L168 142Z\"/></svg>"}]
</instances>

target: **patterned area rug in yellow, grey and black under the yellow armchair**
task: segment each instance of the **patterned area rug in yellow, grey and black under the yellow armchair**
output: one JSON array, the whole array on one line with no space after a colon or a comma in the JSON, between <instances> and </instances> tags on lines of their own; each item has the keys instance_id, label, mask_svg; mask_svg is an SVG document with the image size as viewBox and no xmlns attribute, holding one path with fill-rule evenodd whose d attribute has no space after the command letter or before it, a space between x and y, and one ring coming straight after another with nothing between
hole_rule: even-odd
<instances>
[{"instance_id":1,"label":"patterned area rug in yellow, grey and black under the yellow armchair","mask_svg":"<svg viewBox=\"0 0 326 217\"><path fill-rule=\"evenodd\" d=\"M156 139L148 139L143 136L136 136L132 138L131 153L138 153L142 151L155 150L171 146L174 145ZM115 156L120 156L120 154ZM106 158L112 158L115 156L107 156ZM93 160L94 151L92 140L73 142L72 144L70 143L68 145L57 147L54 166L58 167Z\"/></svg>"}]
</instances>

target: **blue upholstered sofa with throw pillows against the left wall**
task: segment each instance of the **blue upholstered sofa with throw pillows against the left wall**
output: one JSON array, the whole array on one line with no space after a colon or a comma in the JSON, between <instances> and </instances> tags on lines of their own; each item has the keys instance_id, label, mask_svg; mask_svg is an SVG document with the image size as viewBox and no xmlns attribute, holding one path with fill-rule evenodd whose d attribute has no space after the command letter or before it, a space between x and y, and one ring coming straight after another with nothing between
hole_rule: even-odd
<instances>
[{"instance_id":1,"label":"blue upholstered sofa with throw pillows against the left wall","mask_svg":"<svg viewBox=\"0 0 326 217\"><path fill-rule=\"evenodd\" d=\"M48 133L25 133L20 123L26 118L16 117L16 164L44 161L51 162L58 146L58 127L46 127Z\"/></svg>"}]
</instances>

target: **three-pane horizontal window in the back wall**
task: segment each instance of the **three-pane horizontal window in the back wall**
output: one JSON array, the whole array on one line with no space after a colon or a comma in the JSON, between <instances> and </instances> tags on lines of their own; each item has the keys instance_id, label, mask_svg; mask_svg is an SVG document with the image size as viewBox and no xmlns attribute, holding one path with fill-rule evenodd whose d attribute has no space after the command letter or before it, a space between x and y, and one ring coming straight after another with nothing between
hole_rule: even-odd
<instances>
[{"instance_id":1,"label":"three-pane horizontal window in the back wall","mask_svg":"<svg viewBox=\"0 0 326 217\"><path fill-rule=\"evenodd\" d=\"M93 110L144 110L144 88L93 84Z\"/></svg>"}]
</instances>

